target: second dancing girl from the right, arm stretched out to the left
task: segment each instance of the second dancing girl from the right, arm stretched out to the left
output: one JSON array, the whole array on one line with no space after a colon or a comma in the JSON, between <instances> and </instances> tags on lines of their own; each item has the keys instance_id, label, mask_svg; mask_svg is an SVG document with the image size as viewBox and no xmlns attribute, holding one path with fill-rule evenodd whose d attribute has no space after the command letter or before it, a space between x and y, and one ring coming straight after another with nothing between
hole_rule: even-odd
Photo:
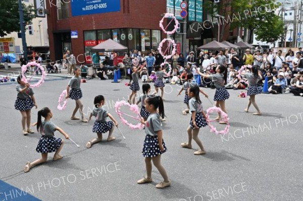
<instances>
[{"instance_id":1,"label":"second dancing girl from the right, arm stretched out to the left","mask_svg":"<svg viewBox=\"0 0 303 201\"><path fill-rule=\"evenodd\" d=\"M212 75L206 75L203 73L198 72L202 77L204 78L210 78L216 87L216 93L215 93L215 98L214 101L216 101L216 107L220 107L223 112L226 112L225 108L225 100L229 98L229 93L225 89L225 84L227 80L227 69L224 65L218 65L216 68L216 74ZM221 114L218 112L218 117L215 118L214 120L218 120L219 123L221 124L226 124L227 122L225 121L220 121L221 120Z\"/></svg>"}]
</instances>

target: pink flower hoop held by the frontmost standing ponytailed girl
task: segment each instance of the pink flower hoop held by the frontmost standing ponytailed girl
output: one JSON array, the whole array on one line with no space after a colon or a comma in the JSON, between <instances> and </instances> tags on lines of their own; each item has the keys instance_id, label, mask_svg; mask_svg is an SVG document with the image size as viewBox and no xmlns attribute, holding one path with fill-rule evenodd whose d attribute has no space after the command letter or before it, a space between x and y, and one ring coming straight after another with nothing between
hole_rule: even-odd
<instances>
[{"instance_id":1,"label":"pink flower hoop held by the frontmost standing ponytailed girl","mask_svg":"<svg viewBox=\"0 0 303 201\"><path fill-rule=\"evenodd\" d=\"M132 112L134 112L137 116L133 117L133 116L130 116L128 114L125 114L125 113L121 112L120 111L121 106L128 106L128 107L130 107L130 110ZM127 122L127 120L125 120L122 117L122 114L124 114L126 116L132 117L132 118L137 119L137 120L140 121L141 116L140 116L139 107L137 105L130 105L128 102L126 102L126 101L123 100L123 101L116 102L115 109L116 109L116 112L117 112L118 116L120 117L120 119L121 119L121 121L122 121L123 124L128 125L128 127L131 128L131 129L143 129L144 125L141 122L139 122L138 124L134 125L134 124L131 124L131 123Z\"/></svg>"}]
</instances>

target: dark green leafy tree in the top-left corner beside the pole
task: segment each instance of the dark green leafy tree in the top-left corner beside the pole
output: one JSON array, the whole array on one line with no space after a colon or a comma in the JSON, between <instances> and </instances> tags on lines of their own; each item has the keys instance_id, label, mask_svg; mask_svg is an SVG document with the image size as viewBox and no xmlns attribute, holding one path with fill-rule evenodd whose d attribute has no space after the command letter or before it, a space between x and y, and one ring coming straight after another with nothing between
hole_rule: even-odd
<instances>
[{"instance_id":1,"label":"dark green leafy tree in the top-left corner beside the pole","mask_svg":"<svg viewBox=\"0 0 303 201\"><path fill-rule=\"evenodd\" d=\"M24 10L24 22L31 23L35 18L34 7L22 4ZM4 37L11 32L20 31L19 4L18 0L0 1L0 37Z\"/></svg>"}]
</instances>

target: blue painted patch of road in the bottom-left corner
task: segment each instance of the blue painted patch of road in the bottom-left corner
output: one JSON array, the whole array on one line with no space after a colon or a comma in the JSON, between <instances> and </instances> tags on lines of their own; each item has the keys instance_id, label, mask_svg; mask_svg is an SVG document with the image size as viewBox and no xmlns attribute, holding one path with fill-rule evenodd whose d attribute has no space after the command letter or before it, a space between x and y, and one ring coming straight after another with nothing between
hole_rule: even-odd
<instances>
[{"instance_id":1,"label":"blue painted patch of road in the bottom-left corner","mask_svg":"<svg viewBox=\"0 0 303 201\"><path fill-rule=\"evenodd\" d=\"M41 199L34 197L29 192L33 193L28 187L27 189L20 189L0 180L0 200L41 201Z\"/></svg>"}]
</instances>

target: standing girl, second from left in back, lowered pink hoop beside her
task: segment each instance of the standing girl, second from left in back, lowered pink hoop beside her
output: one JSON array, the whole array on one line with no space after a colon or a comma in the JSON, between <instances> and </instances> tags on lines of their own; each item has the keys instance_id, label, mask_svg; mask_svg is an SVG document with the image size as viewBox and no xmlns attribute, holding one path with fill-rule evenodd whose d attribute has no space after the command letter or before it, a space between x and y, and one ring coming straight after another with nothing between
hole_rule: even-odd
<instances>
[{"instance_id":1,"label":"standing girl, second from left in back, lowered pink hoop beside her","mask_svg":"<svg viewBox=\"0 0 303 201\"><path fill-rule=\"evenodd\" d=\"M71 78L70 82L67 85L66 91L67 91L67 95L66 98L71 98L73 100L76 101L76 107L73 111L72 120L78 120L80 119L79 117L76 117L76 112L78 111L78 109L80 109L80 116L82 118L83 122L87 122L87 119L83 116L83 104L81 101L82 98L82 91L80 88L80 84L81 84L81 69L79 67L76 67L75 69L75 75ZM70 91L70 88L71 91Z\"/></svg>"}]
</instances>

